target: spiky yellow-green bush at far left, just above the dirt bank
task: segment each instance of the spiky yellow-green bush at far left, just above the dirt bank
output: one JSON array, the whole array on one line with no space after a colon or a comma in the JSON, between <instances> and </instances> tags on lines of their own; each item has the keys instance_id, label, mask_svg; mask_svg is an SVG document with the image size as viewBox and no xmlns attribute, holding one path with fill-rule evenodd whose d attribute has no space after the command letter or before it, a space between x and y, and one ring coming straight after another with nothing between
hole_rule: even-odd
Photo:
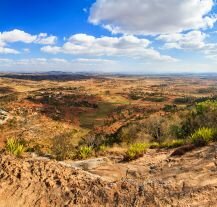
<instances>
[{"instance_id":1,"label":"spiky yellow-green bush at far left, just above the dirt bank","mask_svg":"<svg viewBox=\"0 0 217 207\"><path fill-rule=\"evenodd\" d=\"M6 150L17 157L20 157L25 152L25 146L17 139L7 139Z\"/></svg>"}]
</instances>

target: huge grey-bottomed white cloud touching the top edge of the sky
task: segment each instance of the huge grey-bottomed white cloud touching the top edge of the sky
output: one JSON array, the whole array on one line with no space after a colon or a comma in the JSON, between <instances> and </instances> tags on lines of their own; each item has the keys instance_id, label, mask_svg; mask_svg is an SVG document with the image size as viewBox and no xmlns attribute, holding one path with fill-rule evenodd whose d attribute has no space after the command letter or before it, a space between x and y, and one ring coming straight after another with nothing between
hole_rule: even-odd
<instances>
[{"instance_id":1,"label":"huge grey-bottomed white cloud touching the top edge of the sky","mask_svg":"<svg viewBox=\"0 0 217 207\"><path fill-rule=\"evenodd\" d=\"M213 0L97 0L89 22L113 33L177 33L213 27L213 5Z\"/></svg>"}]
</instances>

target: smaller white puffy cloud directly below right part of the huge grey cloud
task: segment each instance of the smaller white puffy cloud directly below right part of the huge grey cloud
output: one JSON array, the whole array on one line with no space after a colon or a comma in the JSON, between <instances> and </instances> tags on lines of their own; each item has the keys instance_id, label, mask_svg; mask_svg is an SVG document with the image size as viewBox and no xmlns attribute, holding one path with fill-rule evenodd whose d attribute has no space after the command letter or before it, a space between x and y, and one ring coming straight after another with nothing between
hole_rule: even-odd
<instances>
[{"instance_id":1,"label":"smaller white puffy cloud directly below right part of the huge grey cloud","mask_svg":"<svg viewBox=\"0 0 217 207\"><path fill-rule=\"evenodd\" d=\"M175 33L160 35L157 40L162 40L165 43L164 48L167 49L202 49L205 46L205 38L207 35L201 31L191 31L185 34Z\"/></svg>"}]
</instances>

